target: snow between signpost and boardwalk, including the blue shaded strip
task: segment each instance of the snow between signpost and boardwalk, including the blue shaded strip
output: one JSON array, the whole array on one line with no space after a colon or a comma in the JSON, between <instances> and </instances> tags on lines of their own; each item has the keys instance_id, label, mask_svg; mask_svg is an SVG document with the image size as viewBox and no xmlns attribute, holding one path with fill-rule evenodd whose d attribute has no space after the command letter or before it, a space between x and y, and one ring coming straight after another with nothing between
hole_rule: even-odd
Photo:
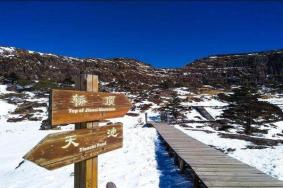
<instances>
[{"instance_id":1,"label":"snow between signpost and boardwalk, including the blue shaded strip","mask_svg":"<svg viewBox=\"0 0 283 188\"><path fill-rule=\"evenodd\" d=\"M139 119L143 117L142 114L115 119L124 124L124 147L99 156L99 170L106 172L100 176L100 187L109 181L125 188L190 187L190 182L179 174L173 160L165 153L156 130L141 127Z\"/></svg>"}]
</instances>

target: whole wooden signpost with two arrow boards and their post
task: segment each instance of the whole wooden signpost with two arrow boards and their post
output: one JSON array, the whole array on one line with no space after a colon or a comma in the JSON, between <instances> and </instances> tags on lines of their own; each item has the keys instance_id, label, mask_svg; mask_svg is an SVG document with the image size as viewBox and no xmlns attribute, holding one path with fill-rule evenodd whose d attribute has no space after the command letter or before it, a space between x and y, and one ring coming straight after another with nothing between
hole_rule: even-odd
<instances>
[{"instance_id":1,"label":"whole wooden signpost with two arrow boards and their post","mask_svg":"<svg viewBox=\"0 0 283 188\"><path fill-rule=\"evenodd\" d=\"M75 163L75 188L97 188L98 155L121 148L121 123L98 126L98 121L125 115L131 103L123 94L98 92L96 75L80 75L76 88L52 90L52 126L76 123L74 131L49 134L24 159L52 170Z\"/></svg>"}]
</instances>

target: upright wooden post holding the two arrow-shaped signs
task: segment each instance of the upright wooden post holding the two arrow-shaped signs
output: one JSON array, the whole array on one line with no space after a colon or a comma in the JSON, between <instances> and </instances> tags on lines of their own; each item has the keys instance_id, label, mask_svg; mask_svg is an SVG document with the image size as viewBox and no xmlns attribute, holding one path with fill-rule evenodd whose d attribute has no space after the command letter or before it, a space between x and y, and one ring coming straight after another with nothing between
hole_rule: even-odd
<instances>
[{"instance_id":1,"label":"upright wooden post holding the two arrow-shaped signs","mask_svg":"<svg viewBox=\"0 0 283 188\"><path fill-rule=\"evenodd\" d=\"M77 89L81 91L98 92L98 76L81 74L80 79L76 82ZM78 123L76 129L92 128L98 126L97 122ZM75 163L75 188L97 188L98 182L98 157Z\"/></svg>"}]
</instances>

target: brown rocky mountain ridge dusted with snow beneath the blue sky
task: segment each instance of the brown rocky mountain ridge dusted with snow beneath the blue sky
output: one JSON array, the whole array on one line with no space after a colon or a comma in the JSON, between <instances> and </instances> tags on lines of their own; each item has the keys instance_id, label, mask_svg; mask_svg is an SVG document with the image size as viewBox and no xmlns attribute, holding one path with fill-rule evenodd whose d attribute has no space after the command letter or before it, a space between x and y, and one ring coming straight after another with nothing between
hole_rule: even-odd
<instances>
[{"instance_id":1,"label":"brown rocky mountain ridge dusted with snow beneath the blue sky","mask_svg":"<svg viewBox=\"0 0 283 188\"><path fill-rule=\"evenodd\" d=\"M129 58L79 59L0 47L1 80L52 80L72 84L74 77L82 72L96 74L107 86L132 93L203 84L220 87L247 82L273 84L283 82L283 50L211 56L184 68L157 69Z\"/></svg>"}]
</instances>

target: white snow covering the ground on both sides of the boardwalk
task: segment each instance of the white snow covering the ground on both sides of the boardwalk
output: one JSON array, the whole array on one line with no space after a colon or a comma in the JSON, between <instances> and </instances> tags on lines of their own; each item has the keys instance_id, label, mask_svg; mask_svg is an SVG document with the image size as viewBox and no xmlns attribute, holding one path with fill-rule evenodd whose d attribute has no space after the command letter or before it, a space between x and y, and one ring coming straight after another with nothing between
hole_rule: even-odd
<instances>
[{"instance_id":1,"label":"white snow covering the ground on both sides of the boardwalk","mask_svg":"<svg viewBox=\"0 0 283 188\"><path fill-rule=\"evenodd\" d=\"M178 90L182 91L182 90ZM0 93L7 93L6 86L0 85ZM47 102L46 98L33 99L33 93L27 92L29 101ZM180 93L186 95L186 93ZM210 96L201 98L201 102L186 102L186 105L207 106L205 109L215 118L222 109L213 106L226 106L226 103ZM277 99L276 99L277 100ZM277 103L278 101L276 101ZM141 103L138 103L139 105ZM159 113L154 109L156 104L144 101L143 104L152 104L147 110L148 117L157 120ZM49 133L73 129L73 125L62 127L62 130L40 131L41 122L22 121L17 123L6 122L9 111L15 105L0 100L0 148L5 155L0 156L0 187L42 187L42 188L69 188L73 187L73 165L57 170L48 171L29 161L23 161L22 156ZM42 108L44 109L44 108ZM124 124L123 148L99 156L99 187L105 187L109 181L117 187L123 188L157 188L157 187L191 187L190 181L179 174L174 162L169 158L164 146L153 128L143 128L144 113L137 117L125 116L112 121ZM43 113L46 115L46 109ZM192 109L185 114L190 120L199 120L201 115ZM283 180L283 146L274 146L265 149L247 149L250 142L236 139L220 138L217 131L204 123L188 124L191 128L176 125L189 136L201 142L227 150L235 149L228 155L235 157L259 170ZM282 132L283 122L274 123L276 128L268 132L267 137ZM197 129L197 130L196 130ZM206 130L207 133L200 130ZM18 167L18 168L17 168Z\"/></svg>"}]
</instances>

